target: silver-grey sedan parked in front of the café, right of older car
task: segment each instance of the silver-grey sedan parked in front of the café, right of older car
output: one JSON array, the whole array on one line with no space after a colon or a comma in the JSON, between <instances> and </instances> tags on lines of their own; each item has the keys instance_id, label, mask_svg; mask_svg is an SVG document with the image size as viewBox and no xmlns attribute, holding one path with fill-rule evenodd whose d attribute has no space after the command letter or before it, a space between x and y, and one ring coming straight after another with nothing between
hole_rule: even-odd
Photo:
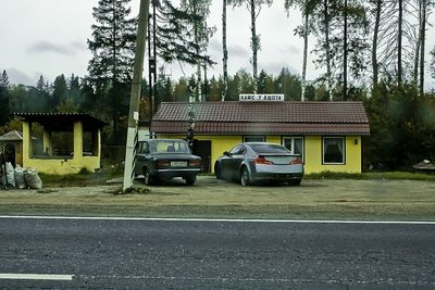
<instances>
[{"instance_id":1,"label":"silver-grey sedan parked in front of the caf\u00e9, right of older car","mask_svg":"<svg viewBox=\"0 0 435 290\"><path fill-rule=\"evenodd\" d=\"M299 186L303 177L300 155L269 142L245 142L225 151L214 164L217 179L239 180L243 186L268 180Z\"/></svg>"}]
</instances>

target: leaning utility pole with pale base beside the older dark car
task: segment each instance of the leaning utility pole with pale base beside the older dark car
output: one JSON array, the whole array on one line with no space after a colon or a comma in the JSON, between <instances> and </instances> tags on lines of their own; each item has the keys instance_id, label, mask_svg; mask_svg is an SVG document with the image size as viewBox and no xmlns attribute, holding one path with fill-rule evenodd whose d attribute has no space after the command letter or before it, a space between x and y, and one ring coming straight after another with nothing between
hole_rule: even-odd
<instances>
[{"instance_id":1,"label":"leaning utility pole with pale base beside the older dark car","mask_svg":"<svg viewBox=\"0 0 435 290\"><path fill-rule=\"evenodd\" d=\"M140 0L139 23L137 27L135 66L133 71L132 92L129 97L127 144L125 148L123 190L133 186L135 153L137 142L137 123L139 121L139 99L144 72L145 39L147 38L149 0Z\"/></svg>"}]
</instances>

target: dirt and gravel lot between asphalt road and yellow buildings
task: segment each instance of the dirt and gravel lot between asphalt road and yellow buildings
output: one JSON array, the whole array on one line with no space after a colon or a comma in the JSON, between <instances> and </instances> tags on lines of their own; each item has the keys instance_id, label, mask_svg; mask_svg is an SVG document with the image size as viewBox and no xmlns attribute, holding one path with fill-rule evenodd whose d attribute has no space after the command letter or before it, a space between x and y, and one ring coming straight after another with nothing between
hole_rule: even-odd
<instances>
[{"instance_id":1,"label":"dirt and gravel lot between asphalt road and yellow buildings","mask_svg":"<svg viewBox=\"0 0 435 290\"><path fill-rule=\"evenodd\" d=\"M104 214L130 216L232 216L277 218L388 218L435 220L435 182L415 180L304 179L298 187L236 182L199 176L122 193L122 180L103 186L0 190L0 214Z\"/></svg>"}]
</instances>

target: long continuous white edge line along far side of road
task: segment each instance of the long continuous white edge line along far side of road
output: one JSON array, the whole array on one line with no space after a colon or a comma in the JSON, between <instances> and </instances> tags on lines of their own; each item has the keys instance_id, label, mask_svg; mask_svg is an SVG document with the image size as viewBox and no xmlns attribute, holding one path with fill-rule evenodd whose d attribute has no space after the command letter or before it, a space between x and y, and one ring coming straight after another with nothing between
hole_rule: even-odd
<instances>
[{"instance_id":1,"label":"long continuous white edge line along far side of road","mask_svg":"<svg viewBox=\"0 0 435 290\"><path fill-rule=\"evenodd\" d=\"M165 218L116 216L35 216L0 215L0 218L32 219L84 219L84 220L148 220L148 222L214 222L214 223L295 223L295 224L385 224L435 225L435 220L352 220L352 219L260 219L260 218Z\"/></svg>"}]
</instances>

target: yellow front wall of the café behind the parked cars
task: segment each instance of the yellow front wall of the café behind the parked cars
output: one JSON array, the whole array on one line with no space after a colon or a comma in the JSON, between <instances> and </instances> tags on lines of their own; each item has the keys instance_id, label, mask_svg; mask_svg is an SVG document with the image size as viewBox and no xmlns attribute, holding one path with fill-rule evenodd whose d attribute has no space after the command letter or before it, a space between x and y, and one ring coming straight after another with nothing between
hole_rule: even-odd
<instances>
[{"instance_id":1,"label":"yellow front wall of the caf\u00e9 behind the parked cars","mask_svg":"<svg viewBox=\"0 0 435 290\"><path fill-rule=\"evenodd\" d=\"M158 138L179 138L184 135L158 135ZM214 162L224 151L229 151L234 146L243 141L243 136L216 136L196 135L195 139L211 140L211 168L214 172ZM282 136L266 136L268 142L281 143ZM357 144L355 143L357 140ZM361 173L361 137L346 136L345 164L326 165L322 164L322 136L304 137L304 171L306 174L320 172L337 173Z\"/></svg>"}]
</instances>

